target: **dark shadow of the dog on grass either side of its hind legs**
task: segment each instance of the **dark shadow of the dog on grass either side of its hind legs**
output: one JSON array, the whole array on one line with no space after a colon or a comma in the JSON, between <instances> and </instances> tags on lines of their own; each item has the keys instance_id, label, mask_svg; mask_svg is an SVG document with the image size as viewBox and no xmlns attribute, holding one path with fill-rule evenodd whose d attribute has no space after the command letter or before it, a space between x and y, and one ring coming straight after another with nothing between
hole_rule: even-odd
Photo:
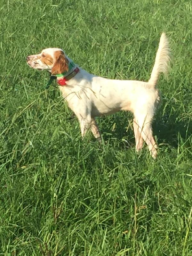
<instances>
[{"instance_id":1,"label":"dark shadow of the dog on grass either side of its hind legs","mask_svg":"<svg viewBox=\"0 0 192 256\"><path fill-rule=\"evenodd\" d=\"M104 140L116 138L121 140L121 145L126 144L128 146L127 142L129 145L135 145L133 127L129 126L128 131L126 131L129 122L132 123L133 117L128 114L127 118L125 118L125 115L126 113L124 113L123 118L120 115L113 116L113 124L116 126L114 130L109 126L102 125L100 132ZM178 146L178 135L180 135L183 142L188 140L192 134L192 120L189 117L179 118L179 116L180 113L177 111L172 115L167 111L163 116L161 116L161 111L157 112L152 127L153 135L157 137L158 144L168 144L176 148ZM122 138L125 138L127 142Z\"/></svg>"}]
</instances>

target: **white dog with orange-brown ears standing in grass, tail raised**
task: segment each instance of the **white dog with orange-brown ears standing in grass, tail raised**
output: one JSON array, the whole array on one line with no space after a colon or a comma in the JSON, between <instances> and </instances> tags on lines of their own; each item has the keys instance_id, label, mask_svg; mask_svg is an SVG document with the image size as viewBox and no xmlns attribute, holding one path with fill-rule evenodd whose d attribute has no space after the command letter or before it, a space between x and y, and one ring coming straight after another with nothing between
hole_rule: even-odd
<instances>
[{"instance_id":1,"label":"white dog with orange-brown ears standing in grass, tail raised","mask_svg":"<svg viewBox=\"0 0 192 256\"><path fill-rule=\"evenodd\" d=\"M159 73L166 73L170 61L168 39L163 33L156 53L155 64L148 82L136 80L107 79L83 70L60 48L47 48L40 54L26 58L30 67L48 70L51 78L56 78L60 91L76 114L84 137L88 128L100 140L100 132L95 121L97 116L113 114L120 110L132 111L136 151L140 151L143 141L148 145L155 159L157 145L153 138L151 123L160 101L156 88Z\"/></svg>"}]
</instances>

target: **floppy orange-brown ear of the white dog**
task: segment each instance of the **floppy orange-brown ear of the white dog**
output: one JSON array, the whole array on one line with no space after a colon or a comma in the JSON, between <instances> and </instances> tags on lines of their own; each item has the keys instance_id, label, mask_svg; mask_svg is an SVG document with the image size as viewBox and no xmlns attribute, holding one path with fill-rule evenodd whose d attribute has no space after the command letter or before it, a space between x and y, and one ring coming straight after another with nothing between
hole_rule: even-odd
<instances>
[{"instance_id":1,"label":"floppy orange-brown ear of the white dog","mask_svg":"<svg viewBox=\"0 0 192 256\"><path fill-rule=\"evenodd\" d=\"M52 67L51 74L57 75L65 71L68 71L68 59L65 57L65 54L61 51L55 52L55 63Z\"/></svg>"}]
</instances>

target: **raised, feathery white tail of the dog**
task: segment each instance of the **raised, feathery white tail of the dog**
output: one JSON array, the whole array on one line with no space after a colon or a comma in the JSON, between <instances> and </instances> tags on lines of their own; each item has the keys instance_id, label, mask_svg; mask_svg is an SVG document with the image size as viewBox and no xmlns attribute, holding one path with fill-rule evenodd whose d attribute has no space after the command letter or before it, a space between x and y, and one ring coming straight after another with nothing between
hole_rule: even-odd
<instances>
[{"instance_id":1,"label":"raised, feathery white tail of the dog","mask_svg":"<svg viewBox=\"0 0 192 256\"><path fill-rule=\"evenodd\" d=\"M165 33L163 33L160 38L159 48L156 53L155 64L153 66L151 77L148 81L148 83L152 87L154 88L156 87L160 72L163 72L164 74L167 73L169 62L170 62L169 41Z\"/></svg>"}]
</instances>

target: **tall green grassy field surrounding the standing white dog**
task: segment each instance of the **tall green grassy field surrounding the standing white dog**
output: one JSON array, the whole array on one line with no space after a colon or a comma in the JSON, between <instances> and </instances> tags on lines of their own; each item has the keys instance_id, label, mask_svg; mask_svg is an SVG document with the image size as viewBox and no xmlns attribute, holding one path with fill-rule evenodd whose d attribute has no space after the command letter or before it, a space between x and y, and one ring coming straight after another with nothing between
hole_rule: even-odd
<instances>
[{"instance_id":1,"label":"tall green grassy field surrounding the standing white dog","mask_svg":"<svg viewBox=\"0 0 192 256\"><path fill-rule=\"evenodd\" d=\"M2 0L0 255L192 255L190 0ZM25 61L60 47L87 71L148 80L161 33L172 68L153 123L159 154L135 153L132 114L84 141L47 72Z\"/></svg>"}]
</instances>

